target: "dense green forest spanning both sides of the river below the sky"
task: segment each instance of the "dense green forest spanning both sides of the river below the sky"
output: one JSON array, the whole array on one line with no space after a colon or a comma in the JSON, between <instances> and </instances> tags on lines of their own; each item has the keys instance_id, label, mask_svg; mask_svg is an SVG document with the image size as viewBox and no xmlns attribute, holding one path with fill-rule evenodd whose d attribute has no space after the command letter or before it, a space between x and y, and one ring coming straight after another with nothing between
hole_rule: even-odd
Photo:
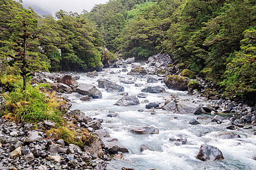
<instances>
[{"instance_id":1,"label":"dense green forest spanning both sides of the river below the sky","mask_svg":"<svg viewBox=\"0 0 256 170\"><path fill-rule=\"evenodd\" d=\"M256 96L255 0L109 0L55 17L0 3L1 74L83 71L113 53L144 60L168 52L225 96Z\"/></svg>"}]
</instances>

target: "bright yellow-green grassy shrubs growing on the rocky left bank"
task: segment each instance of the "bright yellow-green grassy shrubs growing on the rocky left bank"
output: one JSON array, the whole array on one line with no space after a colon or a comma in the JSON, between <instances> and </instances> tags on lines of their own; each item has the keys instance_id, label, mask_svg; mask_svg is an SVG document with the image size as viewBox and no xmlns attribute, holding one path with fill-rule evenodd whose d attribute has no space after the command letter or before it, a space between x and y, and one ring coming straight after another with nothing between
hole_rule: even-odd
<instances>
[{"instance_id":1,"label":"bright yellow-green grassy shrubs growing on the rocky left bank","mask_svg":"<svg viewBox=\"0 0 256 170\"><path fill-rule=\"evenodd\" d=\"M42 93L39 87L27 86L22 92L22 81L18 80L14 85L15 89L8 94L3 94L6 100L1 116L10 121L37 122L52 120L61 122L62 118L58 105L61 103L56 100L54 94Z\"/></svg>"}]
</instances>

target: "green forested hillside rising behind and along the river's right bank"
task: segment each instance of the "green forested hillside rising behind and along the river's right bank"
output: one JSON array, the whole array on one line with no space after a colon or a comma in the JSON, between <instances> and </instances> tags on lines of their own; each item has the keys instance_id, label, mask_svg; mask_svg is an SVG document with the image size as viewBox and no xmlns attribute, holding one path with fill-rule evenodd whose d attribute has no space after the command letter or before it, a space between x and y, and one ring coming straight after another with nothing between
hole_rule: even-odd
<instances>
[{"instance_id":1,"label":"green forested hillside rising behind and along the river's right bank","mask_svg":"<svg viewBox=\"0 0 256 170\"><path fill-rule=\"evenodd\" d=\"M85 16L122 57L168 52L226 96L254 98L255 9L255 0L110 0Z\"/></svg>"}]
</instances>

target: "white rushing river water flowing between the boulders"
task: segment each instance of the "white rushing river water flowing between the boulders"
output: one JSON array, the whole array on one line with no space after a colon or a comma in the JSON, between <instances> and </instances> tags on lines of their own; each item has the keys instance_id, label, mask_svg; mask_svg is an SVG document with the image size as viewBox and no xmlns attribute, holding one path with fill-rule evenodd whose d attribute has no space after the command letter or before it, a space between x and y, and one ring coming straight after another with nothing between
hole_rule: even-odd
<instances>
[{"instance_id":1,"label":"white rushing river water flowing between the boulders","mask_svg":"<svg viewBox=\"0 0 256 170\"><path fill-rule=\"evenodd\" d=\"M146 66L144 66L146 67ZM128 66L129 71L131 68ZM147 86L147 76L137 78L127 75L127 72L120 74L110 74L110 71L118 71L120 68L107 68L99 72L96 78L81 76L79 83L98 85L97 80L100 78L108 79L118 85L124 86L124 91L129 95L141 93L141 89ZM157 78L156 76L154 76ZM143 84L142 87L135 87L135 84L122 84L119 80L133 80L135 83ZM159 79L159 77L158 77ZM187 95L187 92L174 91L168 89L161 81L151 86L160 85L165 87L167 93L152 94L145 93L149 102L164 103L164 96L170 96L174 92L179 94L179 98L196 99L195 96ZM173 114L171 111L155 109L155 114L146 112L146 103L134 106L117 106L114 105L119 98L120 92L106 92L105 89L99 88L102 92L102 99L92 99L89 102L79 100L77 93L72 93L69 98L74 101L71 109L80 109L85 115L91 118L103 119L102 127L108 131L111 137L118 138L118 144L126 147L129 153L124 154L124 159L108 161L107 170L120 170L122 167L130 167L136 170L255 170L256 161L252 157L256 155L256 136L252 131L243 130L232 131L226 130L224 124L217 124L207 120L199 120L201 124L190 125L190 119L196 119L196 115ZM140 101L145 99L139 98ZM199 100L202 102L207 102ZM137 112L138 109L144 109L145 112ZM118 117L107 117L110 112L118 113ZM174 119L177 117L177 119ZM109 121L110 120L110 121ZM154 126L159 129L159 134L154 135L134 135L130 129L134 127ZM216 137L220 131L230 131L241 136L235 139L219 139ZM187 144L176 146L169 138L187 138ZM224 156L221 161L201 161L195 158L201 144L209 144L218 147ZM140 152L140 146L147 145L150 150Z\"/></svg>"}]
</instances>

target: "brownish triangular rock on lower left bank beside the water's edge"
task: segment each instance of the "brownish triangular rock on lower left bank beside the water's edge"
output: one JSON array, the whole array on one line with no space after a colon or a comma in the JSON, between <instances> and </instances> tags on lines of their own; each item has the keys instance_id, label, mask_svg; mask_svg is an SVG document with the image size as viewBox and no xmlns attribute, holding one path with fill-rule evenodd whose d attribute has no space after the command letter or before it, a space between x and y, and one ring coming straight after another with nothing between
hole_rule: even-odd
<instances>
[{"instance_id":1,"label":"brownish triangular rock on lower left bank beside the water's edge","mask_svg":"<svg viewBox=\"0 0 256 170\"><path fill-rule=\"evenodd\" d=\"M99 142L97 137L92 142L90 142L88 145L84 146L84 151L85 151L85 153L87 153L89 155L96 153L98 155L98 157L103 156L102 145Z\"/></svg>"}]
</instances>

